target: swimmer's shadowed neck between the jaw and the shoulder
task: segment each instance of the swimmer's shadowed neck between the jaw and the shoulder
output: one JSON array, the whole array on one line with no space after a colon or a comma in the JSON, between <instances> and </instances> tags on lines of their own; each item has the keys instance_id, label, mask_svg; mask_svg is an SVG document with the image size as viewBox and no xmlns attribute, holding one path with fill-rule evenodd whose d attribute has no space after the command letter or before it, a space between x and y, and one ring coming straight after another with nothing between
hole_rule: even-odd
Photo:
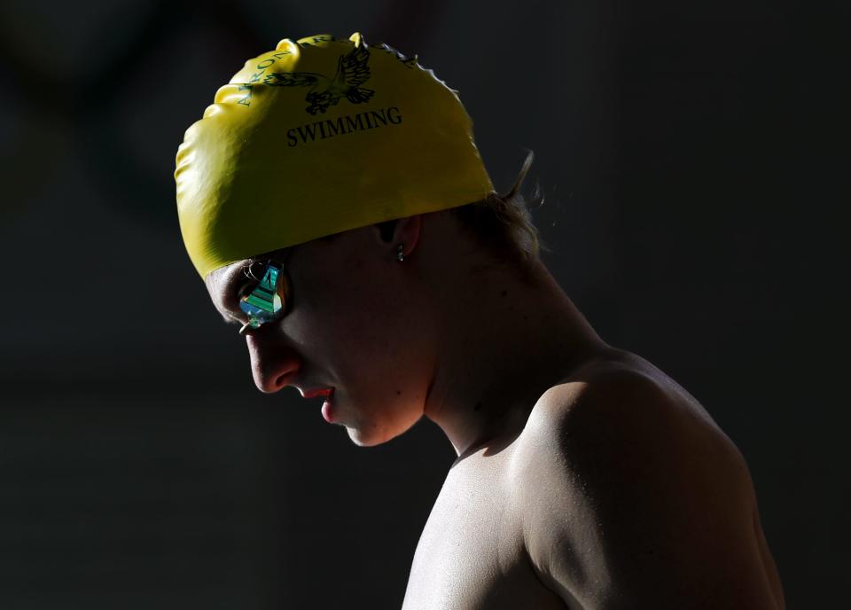
<instances>
[{"instance_id":1,"label":"swimmer's shadowed neck between the jaw and the shoulder","mask_svg":"<svg viewBox=\"0 0 851 610\"><path fill-rule=\"evenodd\" d=\"M426 417L459 458L511 442L543 393L607 346L546 270L458 270L441 307Z\"/></svg>"}]
</instances>

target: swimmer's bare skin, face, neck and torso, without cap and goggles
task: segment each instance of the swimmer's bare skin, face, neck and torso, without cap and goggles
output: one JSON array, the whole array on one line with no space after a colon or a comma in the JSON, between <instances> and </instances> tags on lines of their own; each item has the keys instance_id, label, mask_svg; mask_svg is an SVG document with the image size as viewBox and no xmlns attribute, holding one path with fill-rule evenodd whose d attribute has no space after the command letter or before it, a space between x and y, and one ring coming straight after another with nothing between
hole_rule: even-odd
<instances>
[{"instance_id":1,"label":"swimmer's bare skin, face, neck and torso, without cap and goggles","mask_svg":"<svg viewBox=\"0 0 851 610\"><path fill-rule=\"evenodd\" d=\"M244 264L207 277L237 324ZM257 387L333 387L361 446L425 416L456 450L405 608L785 607L738 450L542 263L505 264L435 213L390 241L296 246L286 271L292 311L246 337Z\"/></svg>"}]
</instances>

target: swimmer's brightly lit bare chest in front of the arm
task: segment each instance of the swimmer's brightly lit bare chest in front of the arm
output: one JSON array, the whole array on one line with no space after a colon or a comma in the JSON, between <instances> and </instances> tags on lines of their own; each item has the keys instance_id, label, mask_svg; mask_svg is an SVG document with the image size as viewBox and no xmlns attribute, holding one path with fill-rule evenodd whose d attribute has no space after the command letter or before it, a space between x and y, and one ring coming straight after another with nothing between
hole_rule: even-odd
<instances>
[{"instance_id":1,"label":"swimmer's brightly lit bare chest in front of the arm","mask_svg":"<svg viewBox=\"0 0 851 610\"><path fill-rule=\"evenodd\" d=\"M508 458L468 458L449 473L419 539L404 610L565 607L524 551Z\"/></svg>"}]
</instances>

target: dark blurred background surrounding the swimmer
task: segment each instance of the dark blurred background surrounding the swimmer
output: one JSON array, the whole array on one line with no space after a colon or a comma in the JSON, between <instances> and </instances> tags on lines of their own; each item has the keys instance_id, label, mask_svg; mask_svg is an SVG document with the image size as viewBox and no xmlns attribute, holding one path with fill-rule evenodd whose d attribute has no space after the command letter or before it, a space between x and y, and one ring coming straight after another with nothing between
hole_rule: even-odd
<instances>
[{"instance_id":1,"label":"dark blurred background surrounding the swimmer","mask_svg":"<svg viewBox=\"0 0 851 610\"><path fill-rule=\"evenodd\" d=\"M177 227L183 130L284 37L360 31L460 91L607 342L744 453L790 608L849 561L847 5L0 8L0 606L393 608L454 452L260 395Z\"/></svg>"}]
</instances>

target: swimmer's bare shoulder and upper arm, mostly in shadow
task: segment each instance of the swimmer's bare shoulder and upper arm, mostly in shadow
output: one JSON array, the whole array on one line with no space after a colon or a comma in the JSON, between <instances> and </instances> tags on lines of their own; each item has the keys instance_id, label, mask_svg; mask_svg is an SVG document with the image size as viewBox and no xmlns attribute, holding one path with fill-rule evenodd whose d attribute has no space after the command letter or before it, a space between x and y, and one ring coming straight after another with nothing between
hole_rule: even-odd
<instances>
[{"instance_id":1,"label":"swimmer's bare shoulder and upper arm, mostly in shadow","mask_svg":"<svg viewBox=\"0 0 851 610\"><path fill-rule=\"evenodd\" d=\"M511 482L535 572L568 604L777 607L744 458L688 392L637 356L589 364L550 388Z\"/></svg>"}]
</instances>

